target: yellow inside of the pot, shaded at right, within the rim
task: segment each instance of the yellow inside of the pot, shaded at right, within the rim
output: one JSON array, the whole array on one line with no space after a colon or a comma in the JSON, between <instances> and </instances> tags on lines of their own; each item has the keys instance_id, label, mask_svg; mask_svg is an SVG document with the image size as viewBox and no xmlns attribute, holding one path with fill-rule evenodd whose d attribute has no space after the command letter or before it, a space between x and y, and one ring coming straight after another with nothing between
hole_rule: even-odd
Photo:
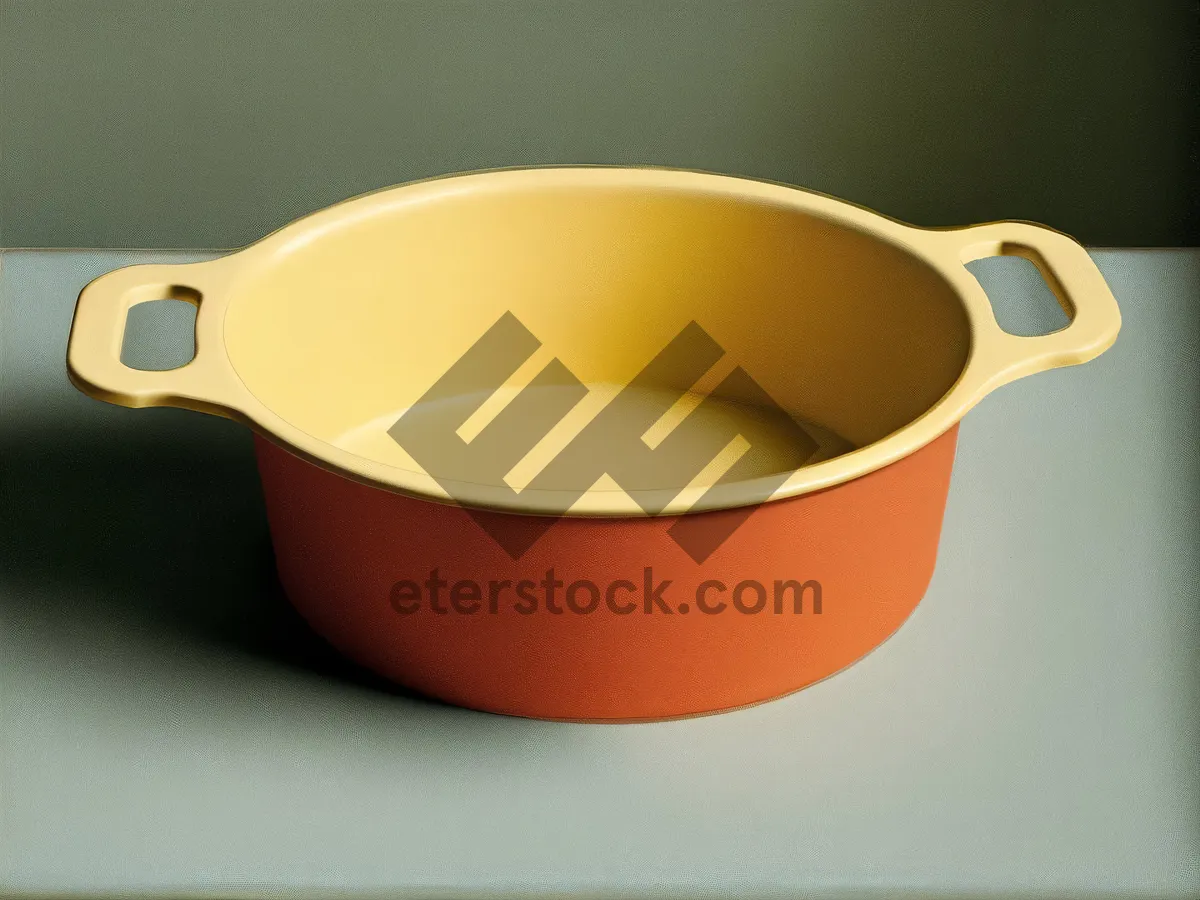
<instances>
[{"instance_id":1,"label":"yellow inside of the pot, shaded at right, within the rim","mask_svg":"<svg viewBox=\"0 0 1200 900\"><path fill-rule=\"evenodd\" d=\"M912 422L966 365L955 289L865 230L702 190L476 184L268 239L223 326L248 391L320 442L416 468L388 427L505 313L542 346L490 406L557 358L593 389L580 422L695 322L725 350L713 372L744 368L829 458ZM685 380L655 388L704 392ZM803 462L781 443L760 474Z\"/></svg>"}]
</instances>

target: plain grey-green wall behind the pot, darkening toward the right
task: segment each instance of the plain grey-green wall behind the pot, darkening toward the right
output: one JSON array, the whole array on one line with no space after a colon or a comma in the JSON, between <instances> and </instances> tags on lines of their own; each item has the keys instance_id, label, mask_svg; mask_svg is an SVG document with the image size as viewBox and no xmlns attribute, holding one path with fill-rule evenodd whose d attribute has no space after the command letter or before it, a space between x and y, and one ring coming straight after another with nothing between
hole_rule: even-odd
<instances>
[{"instance_id":1,"label":"plain grey-green wall behind the pot, darkening toward the right","mask_svg":"<svg viewBox=\"0 0 1200 900\"><path fill-rule=\"evenodd\" d=\"M533 163L1198 242L1196 2L0 0L0 246L234 247Z\"/></svg>"}]
</instances>

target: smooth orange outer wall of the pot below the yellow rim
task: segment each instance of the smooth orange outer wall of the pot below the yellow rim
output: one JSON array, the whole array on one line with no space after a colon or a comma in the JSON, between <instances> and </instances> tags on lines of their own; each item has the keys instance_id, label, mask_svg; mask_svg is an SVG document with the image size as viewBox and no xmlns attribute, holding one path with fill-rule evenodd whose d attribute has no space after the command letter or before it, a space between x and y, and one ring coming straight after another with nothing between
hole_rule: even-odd
<instances>
[{"instance_id":1,"label":"smooth orange outer wall of the pot below the yellow rim","mask_svg":"<svg viewBox=\"0 0 1200 900\"><path fill-rule=\"evenodd\" d=\"M667 534L672 518L563 517L514 560L460 506L380 491L305 462L258 437L280 578L310 624L341 652L388 678L458 706L544 719L647 720L770 700L854 662L912 613L934 574L958 426L899 462L836 487L757 508L703 565ZM506 515L506 514L499 514ZM721 512L694 514L720 516ZM520 528L523 516L512 516ZM540 605L516 611L512 592L487 601L488 582L587 578L671 581L672 612L644 611L642 594L614 595L592 612ZM394 602L394 586L448 583L427 601ZM775 612L774 582L810 586L796 612L788 592ZM484 586L474 612L445 594ZM696 590L710 587L703 612ZM757 613L738 610L736 586L767 590ZM629 598L628 600L625 598ZM758 598L743 595L751 608ZM590 595L578 598L587 607ZM684 612L682 604L688 605ZM401 608L418 606L415 612ZM469 610L473 602L461 602Z\"/></svg>"}]
</instances>

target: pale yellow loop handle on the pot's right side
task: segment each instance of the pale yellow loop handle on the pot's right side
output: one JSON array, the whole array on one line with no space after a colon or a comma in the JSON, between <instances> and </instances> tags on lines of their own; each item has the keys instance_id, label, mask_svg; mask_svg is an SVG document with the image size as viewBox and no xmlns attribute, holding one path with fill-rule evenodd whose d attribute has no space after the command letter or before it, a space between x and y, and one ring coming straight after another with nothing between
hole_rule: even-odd
<instances>
[{"instance_id":1,"label":"pale yellow loop handle on the pot's right side","mask_svg":"<svg viewBox=\"0 0 1200 900\"><path fill-rule=\"evenodd\" d=\"M1075 366L1104 353L1121 330L1121 311L1100 270L1074 239L1032 222L990 222L946 233L960 263L1018 256L1038 268L1070 322L1057 331L1021 337L990 319L977 349L991 354L991 386L1060 366ZM990 307L989 307L990 308Z\"/></svg>"}]
</instances>

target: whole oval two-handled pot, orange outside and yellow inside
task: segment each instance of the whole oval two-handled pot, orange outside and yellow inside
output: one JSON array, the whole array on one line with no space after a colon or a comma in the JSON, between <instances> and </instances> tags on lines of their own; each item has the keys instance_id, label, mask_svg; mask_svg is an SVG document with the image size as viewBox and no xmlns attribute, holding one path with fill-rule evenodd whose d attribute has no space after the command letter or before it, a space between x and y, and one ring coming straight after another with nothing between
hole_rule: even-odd
<instances>
[{"instance_id":1,"label":"whole oval two-handled pot, orange outside and yellow inside","mask_svg":"<svg viewBox=\"0 0 1200 900\"><path fill-rule=\"evenodd\" d=\"M964 263L1070 323L1000 329ZM121 364L125 316L196 354ZM379 191L80 294L73 383L256 432L280 578L362 665L451 703L647 720L778 697L892 635L934 571L961 416L1120 314L1072 239L906 226L776 184L535 168Z\"/></svg>"}]
</instances>

